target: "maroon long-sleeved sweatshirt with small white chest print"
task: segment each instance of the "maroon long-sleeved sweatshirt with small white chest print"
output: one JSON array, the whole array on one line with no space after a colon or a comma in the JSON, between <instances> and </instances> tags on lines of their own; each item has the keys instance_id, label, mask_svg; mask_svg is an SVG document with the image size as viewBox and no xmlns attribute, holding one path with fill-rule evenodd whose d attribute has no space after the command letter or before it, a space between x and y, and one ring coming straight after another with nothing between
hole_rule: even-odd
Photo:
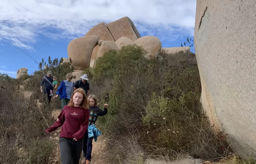
<instances>
[{"instance_id":1,"label":"maroon long-sleeved sweatshirt with small white chest print","mask_svg":"<svg viewBox=\"0 0 256 164\"><path fill-rule=\"evenodd\" d=\"M60 137L80 140L88 129L89 116L89 109L65 105L57 121L46 129L46 132L52 132L62 126Z\"/></svg>"}]
</instances>

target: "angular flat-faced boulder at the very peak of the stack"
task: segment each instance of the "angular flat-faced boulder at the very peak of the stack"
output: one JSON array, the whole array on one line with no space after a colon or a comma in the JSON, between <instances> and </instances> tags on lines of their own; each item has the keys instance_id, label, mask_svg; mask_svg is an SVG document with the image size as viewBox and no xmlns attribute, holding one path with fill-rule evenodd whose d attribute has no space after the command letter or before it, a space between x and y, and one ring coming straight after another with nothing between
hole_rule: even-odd
<instances>
[{"instance_id":1,"label":"angular flat-faced boulder at the very peak of the stack","mask_svg":"<svg viewBox=\"0 0 256 164\"><path fill-rule=\"evenodd\" d=\"M141 37L132 20L127 16L111 22L107 26L115 41L125 36L134 42Z\"/></svg>"}]
</instances>

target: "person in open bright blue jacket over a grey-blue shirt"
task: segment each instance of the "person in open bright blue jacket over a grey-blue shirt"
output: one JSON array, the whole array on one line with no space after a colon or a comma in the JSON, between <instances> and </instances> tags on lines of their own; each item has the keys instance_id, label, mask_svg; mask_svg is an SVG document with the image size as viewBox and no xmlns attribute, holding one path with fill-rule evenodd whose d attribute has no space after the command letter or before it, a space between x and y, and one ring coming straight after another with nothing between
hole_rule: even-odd
<instances>
[{"instance_id":1,"label":"person in open bright blue jacket over a grey-blue shirt","mask_svg":"<svg viewBox=\"0 0 256 164\"><path fill-rule=\"evenodd\" d=\"M61 81L59 88L57 89L56 96L53 98L56 98L60 95L61 99L61 110L64 108L65 105L68 105L71 95L73 94L74 91L74 83L71 82L72 80L72 74L67 74L66 75L65 81Z\"/></svg>"}]
</instances>

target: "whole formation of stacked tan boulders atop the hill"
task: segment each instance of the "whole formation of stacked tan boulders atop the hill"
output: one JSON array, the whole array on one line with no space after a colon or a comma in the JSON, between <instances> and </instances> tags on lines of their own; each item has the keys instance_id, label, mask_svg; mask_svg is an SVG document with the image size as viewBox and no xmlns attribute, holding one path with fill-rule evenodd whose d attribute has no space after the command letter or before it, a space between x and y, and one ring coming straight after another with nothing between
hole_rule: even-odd
<instances>
[{"instance_id":1,"label":"whole formation of stacked tan boulders atop the hill","mask_svg":"<svg viewBox=\"0 0 256 164\"><path fill-rule=\"evenodd\" d=\"M96 61L110 50L119 50L128 44L142 46L148 53L146 58L157 58L162 48L161 41L155 36L141 37L132 20L125 16L108 24L102 22L91 28L83 37L71 40L68 44L68 58L72 59L76 79L83 70L95 67Z\"/></svg>"}]
</instances>

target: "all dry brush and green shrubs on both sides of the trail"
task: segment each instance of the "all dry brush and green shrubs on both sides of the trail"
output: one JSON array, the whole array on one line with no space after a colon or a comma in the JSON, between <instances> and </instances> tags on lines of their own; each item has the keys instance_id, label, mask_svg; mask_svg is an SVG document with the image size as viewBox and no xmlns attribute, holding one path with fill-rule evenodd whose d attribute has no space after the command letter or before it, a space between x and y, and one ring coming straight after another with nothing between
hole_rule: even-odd
<instances>
[{"instance_id":1,"label":"all dry brush and green shrubs on both sides of the trail","mask_svg":"<svg viewBox=\"0 0 256 164\"><path fill-rule=\"evenodd\" d=\"M84 70L90 93L100 99L101 108L109 104L108 114L97 121L107 138L101 153L105 162L142 164L147 158L174 160L185 153L206 160L226 157L230 153L226 135L213 133L201 108L195 54L161 51L157 59L150 60L145 54L143 48L128 45L109 51L95 68ZM0 163L49 163L54 144L45 129L52 125L52 111L61 103L57 98L50 105L36 104L42 100L39 85L48 70L60 84L74 69L71 59L61 62L49 56L48 64L42 60L34 75L19 80L0 74ZM20 85L33 92L30 98ZM252 158L236 161L255 163Z\"/></svg>"}]
</instances>

